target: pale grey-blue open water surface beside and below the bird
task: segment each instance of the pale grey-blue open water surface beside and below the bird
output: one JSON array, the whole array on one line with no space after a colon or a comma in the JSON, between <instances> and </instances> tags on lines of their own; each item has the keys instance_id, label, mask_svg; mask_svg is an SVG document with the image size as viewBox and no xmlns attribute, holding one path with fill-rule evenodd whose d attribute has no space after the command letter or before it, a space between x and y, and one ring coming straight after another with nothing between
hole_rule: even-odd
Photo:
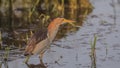
<instances>
[{"instance_id":1,"label":"pale grey-blue open water surface beside and below the bird","mask_svg":"<svg viewBox=\"0 0 120 68\"><path fill-rule=\"evenodd\" d=\"M67 33L66 37L55 41L44 54L43 62L47 68L120 67L120 2L119 0L91 0L91 3L94 10L87 16L82 27L77 32ZM93 61L90 57L90 44L94 40L94 35L97 36L97 43ZM19 52L20 50L17 54ZM18 58L8 62L9 68L28 68L23 63L24 57L21 54L14 57ZM29 68L41 66L38 56L32 56L29 64Z\"/></svg>"}]
</instances>

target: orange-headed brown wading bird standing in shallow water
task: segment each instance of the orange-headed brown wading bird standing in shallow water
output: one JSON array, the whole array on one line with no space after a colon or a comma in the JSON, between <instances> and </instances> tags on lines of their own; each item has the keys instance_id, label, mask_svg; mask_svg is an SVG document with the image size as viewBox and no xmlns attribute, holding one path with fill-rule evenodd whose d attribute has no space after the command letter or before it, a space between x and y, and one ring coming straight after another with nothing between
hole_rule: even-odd
<instances>
[{"instance_id":1,"label":"orange-headed brown wading bird standing in shallow water","mask_svg":"<svg viewBox=\"0 0 120 68\"><path fill-rule=\"evenodd\" d=\"M52 44L60 25L69 23L74 26L73 22L75 21L65 18L53 19L46 29L40 29L29 39L24 56L39 55L40 63L44 64L42 62L43 54Z\"/></svg>"}]
</instances>

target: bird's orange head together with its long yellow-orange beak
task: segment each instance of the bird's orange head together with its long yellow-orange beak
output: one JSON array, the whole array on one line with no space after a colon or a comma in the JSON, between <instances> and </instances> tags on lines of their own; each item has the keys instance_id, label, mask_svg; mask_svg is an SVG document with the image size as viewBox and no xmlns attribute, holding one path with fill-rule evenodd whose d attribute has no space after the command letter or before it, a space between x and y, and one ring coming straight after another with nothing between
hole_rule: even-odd
<instances>
[{"instance_id":1,"label":"bird's orange head together with its long yellow-orange beak","mask_svg":"<svg viewBox=\"0 0 120 68\"><path fill-rule=\"evenodd\" d=\"M56 18L56 19L53 20L53 22L55 22L56 25L62 25L62 24L68 23L68 24L71 24L72 26L75 26L73 24L73 22L75 22L75 21L68 20L68 19L65 19L65 18Z\"/></svg>"}]
</instances>

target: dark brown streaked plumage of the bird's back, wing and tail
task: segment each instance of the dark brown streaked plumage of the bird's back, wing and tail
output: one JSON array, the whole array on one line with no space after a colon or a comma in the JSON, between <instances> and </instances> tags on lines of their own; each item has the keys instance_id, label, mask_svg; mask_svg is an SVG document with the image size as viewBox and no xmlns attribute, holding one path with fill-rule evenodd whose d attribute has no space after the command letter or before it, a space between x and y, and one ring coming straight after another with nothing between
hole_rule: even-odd
<instances>
[{"instance_id":1,"label":"dark brown streaked plumage of the bird's back, wing and tail","mask_svg":"<svg viewBox=\"0 0 120 68\"><path fill-rule=\"evenodd\" d=\"M39 29L39 31L35 32L35 34L29 39L27 43L27 47L25 49L26 55L28 54L27 52L29 52L29 54L32 54L32 51L36 45L47 38L47 29Z\"/></svg>"}]
</instances>

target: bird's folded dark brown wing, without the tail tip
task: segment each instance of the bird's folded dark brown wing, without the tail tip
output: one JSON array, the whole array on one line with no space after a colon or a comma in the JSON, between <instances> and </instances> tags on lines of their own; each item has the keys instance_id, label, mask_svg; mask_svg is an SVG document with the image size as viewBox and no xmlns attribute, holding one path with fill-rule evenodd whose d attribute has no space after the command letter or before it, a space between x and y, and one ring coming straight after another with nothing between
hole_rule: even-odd
<instances>
[{"instance_id":1,"label":"bird's folded dark brown wing, without the tail tip","mask_svg":"<svg viewBox=\"0 0 120 68\"><path fill-rule=\"evenodd\" d=\"M40 29L29 39L27 46L35 47L37 43L47 38L47 29Z\"/></svg>"}]
</instances>

